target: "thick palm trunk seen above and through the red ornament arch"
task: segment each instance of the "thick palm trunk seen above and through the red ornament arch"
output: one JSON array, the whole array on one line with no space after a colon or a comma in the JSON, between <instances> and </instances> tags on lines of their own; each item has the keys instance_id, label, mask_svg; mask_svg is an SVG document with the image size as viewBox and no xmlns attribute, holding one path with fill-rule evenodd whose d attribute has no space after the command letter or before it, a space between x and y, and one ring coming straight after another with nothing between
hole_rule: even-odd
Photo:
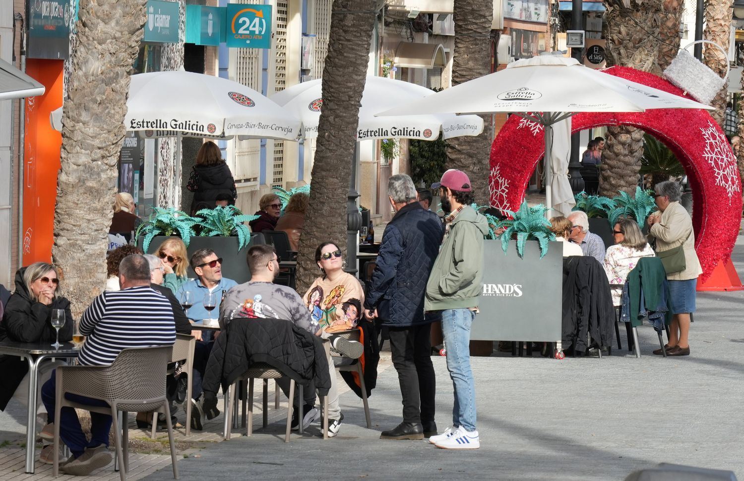
<instances>
[{"instance_id":1,"label":"thick palm trunk seen above and through the red ornament arch","mask_svg":"<svg viewBox=\"0 0 744 481\"><path fill-rule=\"evenodd\" d=\"M661 25L668 20L664 2L605 0L604 3L608 66L622 65L661 74L659 38ZM600 195L615 197L620 191L635 193L644 152L643 139L644 132L634 127L611 126L607 129L602 152Z\"/></svg>"}]
</instances>

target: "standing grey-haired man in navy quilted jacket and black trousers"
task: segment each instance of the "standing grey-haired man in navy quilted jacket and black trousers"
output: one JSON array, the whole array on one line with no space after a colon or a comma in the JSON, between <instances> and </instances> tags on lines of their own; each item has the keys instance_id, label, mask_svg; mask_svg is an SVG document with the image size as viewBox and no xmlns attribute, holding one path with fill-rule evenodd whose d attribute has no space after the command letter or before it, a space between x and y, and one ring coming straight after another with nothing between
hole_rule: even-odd
<instances>
[{"instance_id":1,"label":"standing grey-haired man in navy quilted jacket and black trousers","mask_svg":"<svg viewBox=\"0 0 744 481\"><path fill-rule=\"evenodd\" d=\"M439 217L416 200L416 187L408 175L390 178L388 197L396 213L382 233L365 315L379 317L390 332L393 365L403 395L403 422L379 437L423 439L437 434L429 340L436 319L424 316L423 297L444 228Z\"/></svg>"}]
</instances>

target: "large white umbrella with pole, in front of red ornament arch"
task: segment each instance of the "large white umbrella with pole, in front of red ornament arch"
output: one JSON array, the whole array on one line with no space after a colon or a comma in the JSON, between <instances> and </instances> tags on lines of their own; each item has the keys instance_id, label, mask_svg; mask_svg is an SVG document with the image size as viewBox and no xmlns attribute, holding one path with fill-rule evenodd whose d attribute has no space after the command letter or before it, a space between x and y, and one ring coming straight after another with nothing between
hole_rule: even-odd
<instances>
[{"instance_id":1,"label":"large white umbrella with pole, in front of red ornament arch","mask_svg":"<svg viewBox=\"0 0 744 481\"><path fill-rule=\"evenodd\" d=\"M645 112L648 109L708 109L713 107L631 82L581 65L576 59L541 55L510 63L493 74L455 85L429 97L401 103L378 116L400 114L516 113L545 126L545 152L551 152L554 123L577 112ZM568 131L570 132L570 130ZM568 178L552 185L555 167L548 167L546 203L553 207L554 188L571 193ZM559 162L565 172L565 159ZM565 197L565 192L561 193Z\"/></svg>"}]
</instances>

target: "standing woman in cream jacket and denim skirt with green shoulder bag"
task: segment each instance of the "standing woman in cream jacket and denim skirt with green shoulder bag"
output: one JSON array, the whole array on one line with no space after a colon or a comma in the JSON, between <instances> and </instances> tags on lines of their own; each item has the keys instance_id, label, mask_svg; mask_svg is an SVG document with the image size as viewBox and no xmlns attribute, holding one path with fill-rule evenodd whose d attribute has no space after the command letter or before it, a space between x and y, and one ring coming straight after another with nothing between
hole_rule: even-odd
<instances>
[{"instance_id":1,"label":"standing woman in cream jacket and denim skirt with green shoulder bag","mask_svg":"<svg viewBox=\"0 0 744 481\"><path fill-rule=\"evenodd\" d=\"M700 261L695 252L695 233L693 220L679 199L682 190L673 181L659 182L654 187L658 210L652 213L647 222L650 225L649 239L655 239L656 252L669 251L682 245L684 269L667 272L669 297L672 306L672 323L669 329L669 343L664 346L669 356L690 355L690 314L695 311L695 288L697 278L702 274ZM654 354L661 354L656 349Z\"/></svg>"}]
</instances>

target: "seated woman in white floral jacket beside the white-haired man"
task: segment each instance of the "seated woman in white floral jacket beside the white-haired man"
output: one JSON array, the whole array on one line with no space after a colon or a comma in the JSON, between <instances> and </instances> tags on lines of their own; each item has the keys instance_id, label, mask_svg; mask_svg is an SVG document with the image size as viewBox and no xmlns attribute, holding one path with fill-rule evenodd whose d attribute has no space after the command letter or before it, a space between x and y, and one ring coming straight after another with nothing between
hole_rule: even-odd
<instances>
[{"instance_id":1,"label":"seated woman in white floral jacket beside the white-haired man","mask_svg":"<svg viewBox=\"0 0 744 481\"><path fill-rule=\"evenodd\" d=\"M623 284L638 264L638 259L656 254L632 219L620 219L612 235L615 245L607 248L604 268L612 288L612 305L618 307L623 303Z\"/></svg>"}]
</instances>

